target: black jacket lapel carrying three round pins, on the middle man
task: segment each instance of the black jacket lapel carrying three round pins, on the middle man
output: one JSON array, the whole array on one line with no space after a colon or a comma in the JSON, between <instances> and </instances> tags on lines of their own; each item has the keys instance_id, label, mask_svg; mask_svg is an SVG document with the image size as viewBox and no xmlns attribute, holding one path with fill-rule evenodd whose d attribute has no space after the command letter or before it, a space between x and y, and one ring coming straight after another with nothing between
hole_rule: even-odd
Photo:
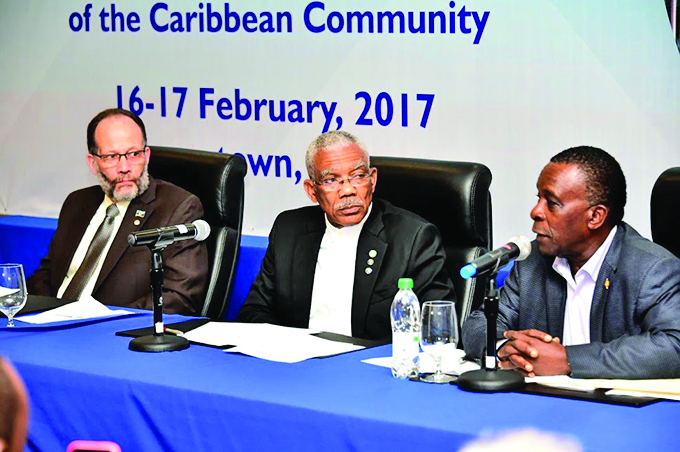
<instances>
[{"instance_id":1,"label":"black jacket lapel carrying three round pins, on the middle man","mask_svg":"<svg viewBox=\"0 0 680 452\"><path fill-rule=\"evenodd\" d=\"M382 206L373 203L371 215L366 220L357 245L354 267L354 290L352 293L352 336L363 337L366 329L366 315L371 294L380 274L380 267L389 245L380 238L384 228ZM373 261L370 265L369 259Z\"/></svg>"}]
</instances>

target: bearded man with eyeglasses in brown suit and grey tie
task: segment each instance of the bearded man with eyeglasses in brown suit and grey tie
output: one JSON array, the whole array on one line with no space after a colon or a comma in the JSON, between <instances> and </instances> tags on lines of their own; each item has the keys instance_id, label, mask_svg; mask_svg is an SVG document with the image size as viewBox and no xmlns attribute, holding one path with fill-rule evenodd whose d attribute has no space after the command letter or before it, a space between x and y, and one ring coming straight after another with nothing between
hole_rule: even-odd
<instances>
[{"instance_id":1,"label":"bearded man with eyeglasses in brown suit and grey tie","mask_svg":"<svg viewBox=\"0 0 680 452\"><path fill-rule=\"evenodd\" d=\"M152 308L146 248L130 248L127 237L141 229L190 223L203 217L199 199L149 177L151 150L139 116L104 110L87 127L87 164L99 186L71 193L29 293L78 300L91 295L115 306ZM163 252L166 313L196 314L205 297L205 242L186 240Z\"/></svg>"}]
</instances>

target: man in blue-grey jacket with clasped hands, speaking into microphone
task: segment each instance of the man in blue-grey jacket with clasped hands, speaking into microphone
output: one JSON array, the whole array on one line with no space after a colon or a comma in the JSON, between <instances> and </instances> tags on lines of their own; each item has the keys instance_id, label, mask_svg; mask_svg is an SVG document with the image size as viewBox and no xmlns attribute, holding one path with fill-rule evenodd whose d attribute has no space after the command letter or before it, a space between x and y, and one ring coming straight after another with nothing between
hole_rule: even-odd
<instances>
[{"instance_id":1,"label":"man in blue-grey jacket with clasped hands, speaking into microphone","mask_svg":"<svg viewBox=\"0 0 680 452\"><path fill-rule=\"evenodd\" d=\"M578 378L680 377L680 259L622 221L626 182L606 152L553 157L531 211L536 240L501 290L500 367ZM485 320L463 325L480 357Z\"/></svg>"}]
</instances>

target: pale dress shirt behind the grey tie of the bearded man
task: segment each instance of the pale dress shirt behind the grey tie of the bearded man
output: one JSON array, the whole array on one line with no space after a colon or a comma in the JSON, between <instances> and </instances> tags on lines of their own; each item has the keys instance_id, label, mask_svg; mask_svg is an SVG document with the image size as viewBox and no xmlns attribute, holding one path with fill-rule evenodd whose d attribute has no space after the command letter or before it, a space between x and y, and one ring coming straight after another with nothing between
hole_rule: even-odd
<instances>
[{"instance_id":1,"label":"pale dress shirt behind the grey tie of the bearded man","mask_svg":"<svg viewBox=\"0 0 680 452\"><path fill-rule=\"evenodd\" d=\"M104 196L104 201L102 201L102 203L97 208L97 211L94 213L94 216L90 220L90 224L87 226L87 229L85 229L83 237L80 239L80 244L78 244L78 248L76 248L76 252L73 255L73 259L71 259L71 263L69 264L68 270L66 271L64 281L62 281L61 286L59 286L57 298L61 298L61 296L64 294L66 288L71 282L71 279L73 278L73 275L76 274L78 268L80 267L80 264L83 263L85 255L87 254L87 249L90 247L90 243L92 242L92 239L94 238L97 229L99 229L99 226L101 226L102 222L104 221L104 218L106 218L106 209L111 204L113 204L113 201L109 199L108 196ZM102 270L102 265L104 265L104 261L106 260L106 255L109 253L109 248L111 248L113 239L116 237L116 234L118 234L118 229L120 229L120 225L123 222L125 212L127 211L129 205L130 201L121 201L116 203L119 213L113 218L113 231L111 231L109 241L106 243L106 246L102 250L102 255L99 258L99 262L97 262L97 268L94 269L94 271L92 272L92 276L90 277L90 280L87 282L87 285L83 289L83 293L80 296L81 298L86 297L88 295L92 295L94 284L97 282L99 273Z\"/></svg>"}]
</instances>

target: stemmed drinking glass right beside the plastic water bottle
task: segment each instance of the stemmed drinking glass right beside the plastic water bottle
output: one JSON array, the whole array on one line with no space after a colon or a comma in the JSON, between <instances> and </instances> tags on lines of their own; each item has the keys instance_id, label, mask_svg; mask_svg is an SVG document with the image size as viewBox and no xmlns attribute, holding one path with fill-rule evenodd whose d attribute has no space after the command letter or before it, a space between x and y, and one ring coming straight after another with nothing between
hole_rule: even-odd
<instances>
[{"instance_id":1,"label":"stemmed drinking glass right beside the plastic water bottle","mask_svg":"<svg viewBox=\"0 0 680 452\"><path fill-rule=\"evenodd\" d=\"M420 346L436 364L434 374L421 377L430 383L448 383L456 377L442 372L444 355L454 353L458 344L458 321L453 301L426 301L423 303Z\"/></svg>"}]
</instances>

